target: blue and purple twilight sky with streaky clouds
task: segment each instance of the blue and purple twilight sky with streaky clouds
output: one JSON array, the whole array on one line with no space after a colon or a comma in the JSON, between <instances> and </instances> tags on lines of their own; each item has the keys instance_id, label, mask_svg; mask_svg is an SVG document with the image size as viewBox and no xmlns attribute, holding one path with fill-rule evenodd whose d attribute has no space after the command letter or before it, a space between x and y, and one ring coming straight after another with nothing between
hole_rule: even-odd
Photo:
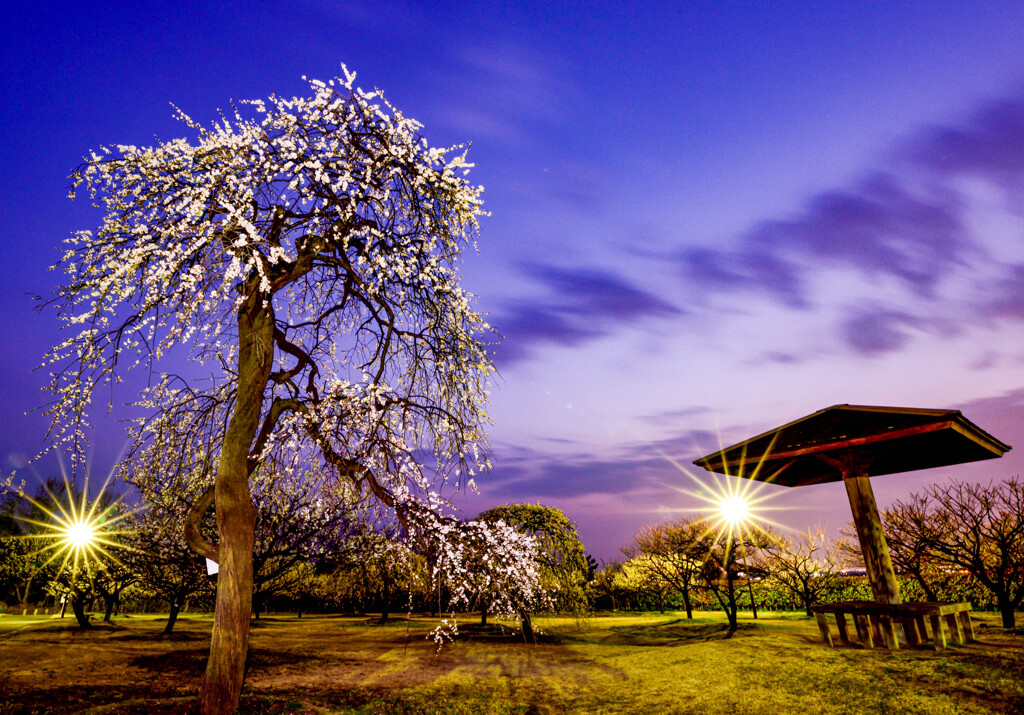
<instances>
[{"instance_id":1,"label":"blue and purple twilight sky with streaky clouds","mask_svg":"<svg viewBox=\"0 0 1024 715\"><path fill-rule=\"evenodd\" d=\"M673 462L839 403L963 409L1018 447L874 479L883 506L1021 472L1024 4L148 5L15 2L0 30L5 471L44 444L58 338L27 294L99 221L66 198L81 157L344 61L471 141L486 187L464 285L506 341L470 515L558 506L609 559L700 506ZM96 422L105 471L124 439ZM788 528L849 518L838 483L762 494Z\"/></svg>"}]
</instances>

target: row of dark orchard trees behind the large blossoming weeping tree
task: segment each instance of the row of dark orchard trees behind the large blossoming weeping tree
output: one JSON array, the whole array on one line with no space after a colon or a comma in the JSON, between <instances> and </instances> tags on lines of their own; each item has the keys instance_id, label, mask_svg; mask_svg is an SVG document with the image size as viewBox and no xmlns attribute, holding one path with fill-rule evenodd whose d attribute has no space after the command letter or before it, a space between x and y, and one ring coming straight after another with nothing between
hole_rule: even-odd
<instances>
[{"instance_id":1,"label":"row of dark orchard trees behind the large blossoming weeping tree","mask_svg":"<svg viewBox=\"0 0 1024 715\"><path fill-rule=\"evenodd\" d=\"M530 617L557 609L588 609L590 572L575 525L558 509L530 504L495 507L474 522L462 522L472 551L472 583L447 578L442 554L429 540L416 542L395 521L385 521L354 493L309 473L260 471L254 479L257 514L253 550L253 616L271 603L298 613L431 615L479 611L514 615L532 638ZM101 604L110 621L122 606L168 613L171 633L188 602L204 607L216 592L216 574L185 543L193 499L174 490L148 492L129 505L105 496L97 503L94 553L74 563L61 550L65 537L53 517L77 504L81 494L50 479L31 499L7 495L0 507L0 602L12 607L65 604L82 627ZM510 588L508 567L475 523L511 529L528 547L536 588ZM202 534L215 524L208 512ZM521 553L517 553L517 558ZM496 607L497 606L497 607ZM511 606L511 607L510 607Z\"/></svg>"}]
</instances>

